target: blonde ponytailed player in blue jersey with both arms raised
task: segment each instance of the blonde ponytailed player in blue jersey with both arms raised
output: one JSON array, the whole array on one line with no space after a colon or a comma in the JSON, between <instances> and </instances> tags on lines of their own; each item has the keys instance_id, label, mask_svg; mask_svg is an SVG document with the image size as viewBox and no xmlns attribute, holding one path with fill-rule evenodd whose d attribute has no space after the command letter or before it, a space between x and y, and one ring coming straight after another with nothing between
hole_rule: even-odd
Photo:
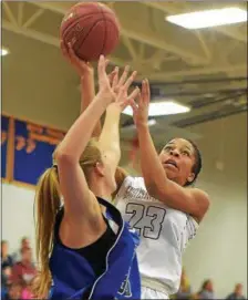
<instances>
[{"instance_id":1,"label":"blonde ponytailed player in blue jersey with both arms raised","mask_svg":"<svg viewBox=\"0 0 248 300\"><path fill-rule=\"evenodd\" d=\"M135 252L138 236L105 200L116 189L118 138L116 143L106 143L101 136L99 142L90 141L106 107L108 117L114 118L138 89L127 96L134 72L116 94L105 68L101 56L99 93L71 126L55 149L54 166L38 184L38 299L46 298L49 290L50 299L141 298Z\"/></svg>"}]
</instances>

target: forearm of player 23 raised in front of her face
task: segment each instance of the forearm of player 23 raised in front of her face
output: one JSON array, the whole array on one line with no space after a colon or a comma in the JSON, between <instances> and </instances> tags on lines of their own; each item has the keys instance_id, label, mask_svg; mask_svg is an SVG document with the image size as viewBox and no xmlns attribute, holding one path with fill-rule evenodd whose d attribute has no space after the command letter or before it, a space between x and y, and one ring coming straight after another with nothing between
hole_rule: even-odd
<instances>
[{"instance_id":1,"label":"forearm of player 23 raised in front of her face","mask_svg":"<svg viewBox=\"0 0 248 300\"><path fill-rule=\"evenodd\" d=\"M159 162L147 125L137 126L141 154L141 168L147 189L165 187L167 176Z\"/></svg>"}]
</instances>

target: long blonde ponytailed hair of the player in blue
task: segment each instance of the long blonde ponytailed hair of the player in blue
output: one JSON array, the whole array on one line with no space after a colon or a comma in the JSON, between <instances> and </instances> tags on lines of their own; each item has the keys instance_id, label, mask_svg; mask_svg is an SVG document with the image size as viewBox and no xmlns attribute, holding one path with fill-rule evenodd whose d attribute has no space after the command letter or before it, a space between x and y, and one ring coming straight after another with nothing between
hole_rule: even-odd
<instances>
[{"instance_id":1,"label":"long blonde ponytailed hair of the player in blue","mask_svg":"<svg viewBox=\"0 0 248 300\"><path fill-rule=\"evenodd\" d=\"M55 153L55 152L54 152ZM89 183L91 168L102 162L97 142L92 138L80 158L80 165ZM48 297L51 286L49 259L53 249L53 228L56 213L61 207L61 193L58 168L53 166L46 169L40 177L35 193L35 245L37 259L40 267L34 280L34 296L44 299Z\"/></svg>"}]
</instances>

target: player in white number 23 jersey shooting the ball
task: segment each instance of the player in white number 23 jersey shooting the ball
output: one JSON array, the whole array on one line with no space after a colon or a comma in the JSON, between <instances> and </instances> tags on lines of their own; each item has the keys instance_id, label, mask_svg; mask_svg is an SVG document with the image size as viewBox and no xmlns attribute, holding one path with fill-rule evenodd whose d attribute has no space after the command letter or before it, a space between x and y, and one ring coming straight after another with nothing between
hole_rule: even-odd
<instances>
[{"instance_id":1,"label":"player in white number 23 jersey shooting the ball","mask_svg":"<svg viewBox=\"0 0 248 300\"><path fill-rule=\"evenodd\" d=\"M81 107L84 108L94 96L93 72L73 53L71 63L81 75ZM120 82L125 80L127 72ZM196 235L209 199L203 190L189 187L202 168L200 153L193 142L175 138L157 155L147 125L148 103L149 86L144 81L141 99L137 105L133 105L143 177L128 176L118 168L115 203L125 220L141 236L137 258L142 299L169 299L169 294L179 288L183 251ZM106 143L116 144L120 138L120 115L121 111L106 114L102 131ZM95 135L100 134L100 126ZM116 155L120 155L120 147L116 147Z\"/></svg>"}]
</instances>

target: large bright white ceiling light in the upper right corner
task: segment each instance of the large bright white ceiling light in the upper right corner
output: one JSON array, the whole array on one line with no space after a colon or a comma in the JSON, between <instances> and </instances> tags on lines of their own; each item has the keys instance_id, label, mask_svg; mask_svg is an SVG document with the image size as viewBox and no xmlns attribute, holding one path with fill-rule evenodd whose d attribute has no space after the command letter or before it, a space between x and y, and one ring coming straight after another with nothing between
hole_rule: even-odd
<instances>
[{"instance_id":1,"label":"large bright white ceiling light in the upper right corner","mask_svg":"<svg viewBox=\"0 0 248 300\"><path fill-rule=\"evenodd\" d=\"M247 11L239 8L213 9L166 17L166 20L187 29L200 29L247 21Z\"/></svg>"}]
</instances>

